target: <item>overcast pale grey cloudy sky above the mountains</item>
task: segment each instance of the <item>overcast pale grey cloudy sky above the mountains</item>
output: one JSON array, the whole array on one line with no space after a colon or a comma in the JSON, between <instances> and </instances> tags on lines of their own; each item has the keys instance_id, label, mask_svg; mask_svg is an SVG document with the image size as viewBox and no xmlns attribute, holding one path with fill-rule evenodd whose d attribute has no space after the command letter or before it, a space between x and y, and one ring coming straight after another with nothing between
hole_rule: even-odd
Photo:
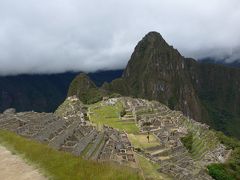
<instances>
[{"instance_id":1,"label":"overcast pale grey cloudy sky above the mountains","mask_svg":"<svg viewBox=\"0 0 240 180\"><path fill-rule=\"evenodd\" d=\"M239 0L0 0L0 74L124 68L158 31L185 57L240 58Z\"/></svg>"}]
</instances>

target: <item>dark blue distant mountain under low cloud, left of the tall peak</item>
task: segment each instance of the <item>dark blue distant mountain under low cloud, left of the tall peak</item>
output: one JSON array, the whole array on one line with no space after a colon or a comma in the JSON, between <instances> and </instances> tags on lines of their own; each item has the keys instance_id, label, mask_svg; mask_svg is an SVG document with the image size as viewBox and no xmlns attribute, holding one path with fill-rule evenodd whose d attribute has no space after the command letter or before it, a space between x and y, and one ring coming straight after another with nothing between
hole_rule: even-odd
<instances>
[{"instance_id":1,"label":"dark blue distant mountain under low cloud, left of the tall peak","mask_svg":"<svg viewBox=\"0 0 240 180\"><path fill-rule=\"evenodd\" d=\"M121 77L122 70L90 73L98 86ZM53 112L65 100L69 84L79 73L17 75L0 77L0 112L13 107L20 111Z\"/></svg>"}]
</instances>

